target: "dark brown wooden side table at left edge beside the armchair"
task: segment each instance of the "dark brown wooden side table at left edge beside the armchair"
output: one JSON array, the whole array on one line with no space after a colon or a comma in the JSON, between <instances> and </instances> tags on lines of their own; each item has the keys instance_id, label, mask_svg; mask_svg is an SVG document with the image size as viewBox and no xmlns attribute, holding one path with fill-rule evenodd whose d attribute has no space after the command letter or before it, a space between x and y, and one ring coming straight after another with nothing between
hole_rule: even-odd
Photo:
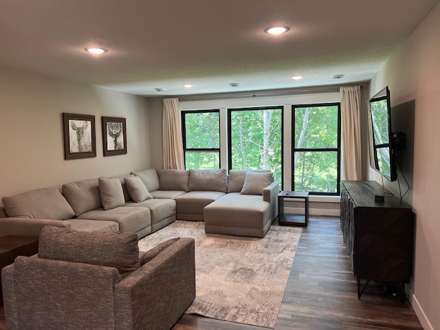
<instances>
[{"instance_id":1,"label":"dark brown wooden side table at left edge beside the armchair","mask_svg":"<svg viewBox=\"0 0 440 330\"><path fill-rule=\"evenodd\" d=\"M39 252L39 238L30 236L0 237L0 284L3 267L14 263L17 256L32 256ZM0 285L0 304L3 305L3 291Z\"/></svg>"}]
</instances>

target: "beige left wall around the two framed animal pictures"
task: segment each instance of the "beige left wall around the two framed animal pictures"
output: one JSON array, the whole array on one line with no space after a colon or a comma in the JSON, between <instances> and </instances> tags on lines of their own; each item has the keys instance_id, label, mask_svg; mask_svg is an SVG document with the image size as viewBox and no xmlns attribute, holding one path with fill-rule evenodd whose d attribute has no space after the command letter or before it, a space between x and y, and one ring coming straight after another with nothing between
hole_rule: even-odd
<instances>
[{"instance_id":1,"label":"beige left wall around the two framed animal pictures","mask_svg":"<svg viewBox=\"0 0 440 330\"><path fill-rule=\"evenodd\" d=\"M64 159L63 112L95 115L95 158ZM147 113L138 96L0 67L0 197L149 167ZM103 157L102 115L126 118L126 155Z\"/></svg>"}]
</instances>

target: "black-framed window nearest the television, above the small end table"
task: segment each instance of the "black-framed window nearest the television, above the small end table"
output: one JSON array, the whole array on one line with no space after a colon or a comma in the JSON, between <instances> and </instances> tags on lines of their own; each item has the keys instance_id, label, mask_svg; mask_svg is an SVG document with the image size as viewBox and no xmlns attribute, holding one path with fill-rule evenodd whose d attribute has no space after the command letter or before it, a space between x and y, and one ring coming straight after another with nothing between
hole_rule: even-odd
<instances>
[{"instance_id":1,"label":"black-framed window nearest the television, above the small end table","mask_svg":"<svg viewBox=\"0 0 440 330\"><path fill-rule=\"evenodd\" d=\"M340 103L292 106L292 189L338 195Z\"/></svg>"}]
</instances>

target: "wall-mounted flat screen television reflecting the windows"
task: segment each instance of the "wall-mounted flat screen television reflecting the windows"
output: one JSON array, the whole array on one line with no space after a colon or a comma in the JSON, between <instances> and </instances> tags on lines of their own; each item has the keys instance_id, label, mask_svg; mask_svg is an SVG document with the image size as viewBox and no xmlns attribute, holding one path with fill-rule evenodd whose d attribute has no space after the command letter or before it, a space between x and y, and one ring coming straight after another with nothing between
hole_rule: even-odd
<instances>
[{"instance_id":1,"label":"wall-mounted flat screen television reflecting the windows","mask_svg":"<svg viewBox=\"0 0 440 330\"><path fill-rule=\"evenodd\" d=\"M395 148L391 132L391 103L388 86L367 104L370 166L390 181L397 180Z\"/></svg>"}]
</instances>

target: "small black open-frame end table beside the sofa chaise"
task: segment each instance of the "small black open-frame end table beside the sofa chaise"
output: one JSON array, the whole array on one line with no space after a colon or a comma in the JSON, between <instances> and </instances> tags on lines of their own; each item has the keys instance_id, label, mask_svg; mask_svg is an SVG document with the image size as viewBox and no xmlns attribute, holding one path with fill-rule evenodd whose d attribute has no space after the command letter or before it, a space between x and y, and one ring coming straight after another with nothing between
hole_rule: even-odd
<instances>
[{"instance_id":1,"label":"small black open-frame end table beside the sofa chaise","mask_svg":"<svg viewBox=\"0 0 440 330\"><path fill-rule=\"evenodd\" d=\"M285 199L304 199L305 214L285 214ZM307 226L309 222L309 192L304 191L281 191L278 194L278 223L280 225Z\"/></svg>"}]
</instances>

